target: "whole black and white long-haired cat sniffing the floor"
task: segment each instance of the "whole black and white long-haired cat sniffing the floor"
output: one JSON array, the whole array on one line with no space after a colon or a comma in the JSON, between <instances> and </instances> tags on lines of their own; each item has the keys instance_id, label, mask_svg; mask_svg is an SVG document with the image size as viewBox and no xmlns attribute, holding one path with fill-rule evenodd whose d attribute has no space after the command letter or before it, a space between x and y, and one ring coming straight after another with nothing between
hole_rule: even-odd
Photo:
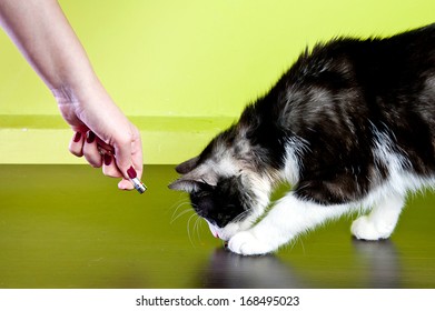
<instances>
[{"instance_id":1,"label":"whole black and white long-haired cat sniffing the floor","mask_svg":"<svg viewBox=\"0 0 435 311\"><path fill-rule=\"evenodd\" d=\"M169 188L189 192L236 253L275 251L355 211L369 212L352 224L357 239L387 239L407 192L435 184L435 23L305 51L177 172Z\"/></svg>"}]
</instances>

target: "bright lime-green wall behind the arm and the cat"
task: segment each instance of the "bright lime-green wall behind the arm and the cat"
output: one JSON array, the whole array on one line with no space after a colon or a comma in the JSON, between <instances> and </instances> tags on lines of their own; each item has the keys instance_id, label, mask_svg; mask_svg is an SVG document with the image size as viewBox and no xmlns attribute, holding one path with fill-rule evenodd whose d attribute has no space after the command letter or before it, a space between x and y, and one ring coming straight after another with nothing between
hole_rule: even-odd
<instances>
[{"instance_id":1,"label":"bright lime-green wall behind the arm and the cat","mask_svg":"<svg viewBox=\"0 0 435 311\"><path fill-rule=\"evenodd\" d=\"M125 113L139 118L144 136L151 131L147 129L150 118L172 117L175 132L182 118L220 119L225 127L248 101L266 92L307 44L338 34L393 34L435 21L433 0L60 3L103 84ZM51 93L3 32L0 69L3 121L14 118L11 122L20 128L26 127L19 119L22 114L58 116ZM188 153L199 150L219 129L210 123L202 140L187 142L192 147ZM0 139L4 136L0 119ZM152 151L159 140L145 139L149 162L165 158ZM0 148L8 146L3 142ZM10 153L0 162L11 157L16 158Z\"/></svg>"}]
</instances>

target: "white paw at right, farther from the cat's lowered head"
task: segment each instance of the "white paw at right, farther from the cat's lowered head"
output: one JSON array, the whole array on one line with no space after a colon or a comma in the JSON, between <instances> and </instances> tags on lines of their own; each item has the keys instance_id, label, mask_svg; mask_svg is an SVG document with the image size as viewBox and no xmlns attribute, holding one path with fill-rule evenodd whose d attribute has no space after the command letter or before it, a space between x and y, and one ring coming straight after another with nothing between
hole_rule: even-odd
<instances>
[{"instance_id":1,"label":"white paw at right, farther from the cat's lowered head","mask_svg":"<svg viewBox=\"0 0 435 311\"><path fill-rule=\"evenodd\" d=\"M350 232L358 240L377 241L388 239L394 224L376 225L368 217L363 215L352 223Z\"/></svg>"}]
</instances>

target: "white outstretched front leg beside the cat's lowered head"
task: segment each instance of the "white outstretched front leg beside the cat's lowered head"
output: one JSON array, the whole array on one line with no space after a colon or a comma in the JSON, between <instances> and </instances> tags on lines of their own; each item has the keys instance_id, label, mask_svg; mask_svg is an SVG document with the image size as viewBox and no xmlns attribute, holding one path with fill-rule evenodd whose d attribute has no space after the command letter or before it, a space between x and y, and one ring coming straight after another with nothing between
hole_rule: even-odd
<instances>
[{"instance_id":1,"label":"white outstretched front leg beside the cat's lowered head","mask_svg":"<svg viewBox=\"0 0 435 311\"><path fill-rule=\"evenodd\" d=\"M265 254L294 240L298 234L348 211L348 205L320 205L288 193L253 228L236 233L228 242L233 252Z\"/></svg>"}]
</instances>

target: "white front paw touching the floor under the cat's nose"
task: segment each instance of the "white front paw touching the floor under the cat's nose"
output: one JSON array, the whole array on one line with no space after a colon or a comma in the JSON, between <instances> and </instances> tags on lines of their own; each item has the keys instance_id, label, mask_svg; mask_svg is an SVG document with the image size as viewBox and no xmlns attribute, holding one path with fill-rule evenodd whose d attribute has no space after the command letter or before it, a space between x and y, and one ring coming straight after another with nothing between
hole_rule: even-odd
<instances>
[{"instance_id":1,"label":"white front paw touching the floor under the cat's nose","mask_svg":"<svg viewBox=\"0 0 435 311\"><path fill-rule=\"evenodd\" d=\"M275 250L273 245L258 240L249 231L241 231L234 235L228 242L228 249L243 255L265 254Z\"/></svg>"}]
</instances>

